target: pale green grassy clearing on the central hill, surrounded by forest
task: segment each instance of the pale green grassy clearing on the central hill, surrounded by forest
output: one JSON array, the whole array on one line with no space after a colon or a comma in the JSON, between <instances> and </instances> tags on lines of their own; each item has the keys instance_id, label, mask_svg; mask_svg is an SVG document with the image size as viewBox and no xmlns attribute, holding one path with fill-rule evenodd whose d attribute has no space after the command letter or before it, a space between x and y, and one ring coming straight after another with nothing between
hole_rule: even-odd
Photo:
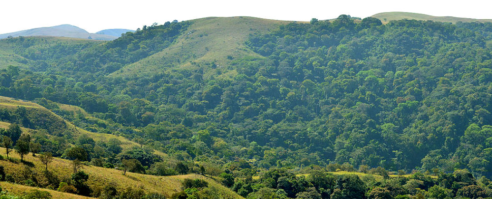
<instances>
[{"instance_id":1,"label":"pale green grassy clearing on the central hill, surrounded by forest","mask_svg":"<svg viewBox=\"0 0 492 199\"><path fill-rule=\"evenodd\" d=\"M225 70L229 58L256 56L246 48L245 41L250 33L267 32L288 21L260 19L254 17L208 17L191 20L192 25L176 41L152 56L123 67L110 76L145 76L180 68L198 69L199 64L215 62L216 69L204 68L204 79L216 70ZM191 62L194 63L191 63ZM235 75L231 72L229 75Z\"/></svg>"}]
</instances>

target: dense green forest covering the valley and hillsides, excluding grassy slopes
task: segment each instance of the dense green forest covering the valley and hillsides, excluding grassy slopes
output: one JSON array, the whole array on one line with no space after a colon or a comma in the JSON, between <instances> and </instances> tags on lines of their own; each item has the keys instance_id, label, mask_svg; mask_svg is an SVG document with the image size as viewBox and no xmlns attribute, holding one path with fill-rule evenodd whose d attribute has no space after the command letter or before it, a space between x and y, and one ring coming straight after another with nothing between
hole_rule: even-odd
<instances>
[{"instance_id":1,"label":"dense green forest covering the valley and hillsides, excluding grassy slopes","mask_svg":"<svg viewBox=\"0 0 492 199\"><path fill-rule=\"evenodd\" d=\"M164 65L151 76L119 75L180 45L190 24L154 24L106 43L0 40L28 66L0 67L0 95L142 145L122 151L117 143L65 136L43 148L55 156L80 159L74 153L82 151L83 160L107 167L133 158L142 165L135 171L157 175L199 172L199 162L247 198L492 196L492 23L312 19L249 35L244 46L255 56L229 56L226 66L197 61L194 68ZM1 121L66 134L29 118L0 110ZM328 173L354 168L401 176L361 181Z\"/></svg>"}]
</instances>

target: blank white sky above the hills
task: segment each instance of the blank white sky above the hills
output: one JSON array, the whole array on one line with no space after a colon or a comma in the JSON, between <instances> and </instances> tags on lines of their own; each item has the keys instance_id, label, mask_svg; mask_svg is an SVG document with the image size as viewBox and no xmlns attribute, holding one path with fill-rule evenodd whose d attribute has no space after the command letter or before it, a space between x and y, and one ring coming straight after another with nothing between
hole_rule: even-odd
<instances>
[{"instance_id":1,"label":"blank white sky above the hills","mask_svg":"<svg viewBox=\"0 0 492 199\"><path fill-rule=\"evenodd\" d=\"M491 7L492 0L1 0L0 34L61 24L97 32L203 17L310 21L393 11L492 19Z\"/></svg>"}]
</instances>

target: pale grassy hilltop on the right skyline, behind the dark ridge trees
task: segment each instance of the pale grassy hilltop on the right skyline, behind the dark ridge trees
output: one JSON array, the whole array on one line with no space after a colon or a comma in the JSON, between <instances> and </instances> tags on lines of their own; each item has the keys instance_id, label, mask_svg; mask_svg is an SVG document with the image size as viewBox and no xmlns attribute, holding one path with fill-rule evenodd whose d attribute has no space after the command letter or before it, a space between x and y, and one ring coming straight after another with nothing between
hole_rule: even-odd
<instances>
[{"instance_id":1,"label":"pale grassy hilltop on the right skyline, behind the dark ridge trees","mask_svg":"<svg viewBox=\"0 0 492 199\"><path fill-rule=\"evenodd\" d=\"M435 22L450 22L456 24L457 22L492 22L492 19L470 19L470 18L460 18L451 16L432 16L419 13L411 12L382 12L372 15L371 17L378 18L383 23L388 23L391 20L401 20L401 19L415 19L415 20L431 20Z\"/></svg>"}]
</instances>

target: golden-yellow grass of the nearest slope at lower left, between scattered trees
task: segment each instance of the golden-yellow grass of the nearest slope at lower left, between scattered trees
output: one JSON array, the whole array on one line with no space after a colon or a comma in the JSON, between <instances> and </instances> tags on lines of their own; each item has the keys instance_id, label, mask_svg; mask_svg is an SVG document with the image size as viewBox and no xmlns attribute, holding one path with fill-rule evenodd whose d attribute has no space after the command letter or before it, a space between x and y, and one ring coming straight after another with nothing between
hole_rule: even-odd
<instances>
[{"instance_id":1,"label":"golden-yellow grass of the nearest slope at lower left, between scattered trees","mask_svg":"<svg viewBox=\"0 0 492 199\"><path fill-rule=\"evenodd\" d=\"M5 157L5 148L0 148L0 154ZM14 152L10 153L9 157L20 159L20 156ZM37 159L37 157L33 157L31 154L24 156L24 160L34 164L34 167L31 168L31 170L33 170L34 172L41 173L45 169L45 166ZM18 173L24 170L25 167L22 163L13 163L7 160L0 160L0 165L5 168L5 172L7 174ZM70 177L70 175L72 174L71 161L54 158L53 162L48 165L48 170L54 171L61 179L63 177ZM235 192L228 188L225 188L224 186L217 183L215 180L199 174L155 176L126 172L126 175L123 175L123 171L94 166L84 166L82 170L89 174L89 180L87 181L87 184L92 189L101 187L105 183L114 182L118 184L120 189L124 189L126 187L142 187L147 193L160 193L167 197L170 197L172 194L183 189L182 181L185 178L200 178L209 182L210 187L214 187L219 190L224 196L228 196L227 198L242 199L242 197L237 195ZM3 186L2 184L2 187L7 189L8 187L12 187L12 189L17 189L16 185ZM22 190L29 189L29 187L21 188Z\"/></svg>"}]
</instances>

